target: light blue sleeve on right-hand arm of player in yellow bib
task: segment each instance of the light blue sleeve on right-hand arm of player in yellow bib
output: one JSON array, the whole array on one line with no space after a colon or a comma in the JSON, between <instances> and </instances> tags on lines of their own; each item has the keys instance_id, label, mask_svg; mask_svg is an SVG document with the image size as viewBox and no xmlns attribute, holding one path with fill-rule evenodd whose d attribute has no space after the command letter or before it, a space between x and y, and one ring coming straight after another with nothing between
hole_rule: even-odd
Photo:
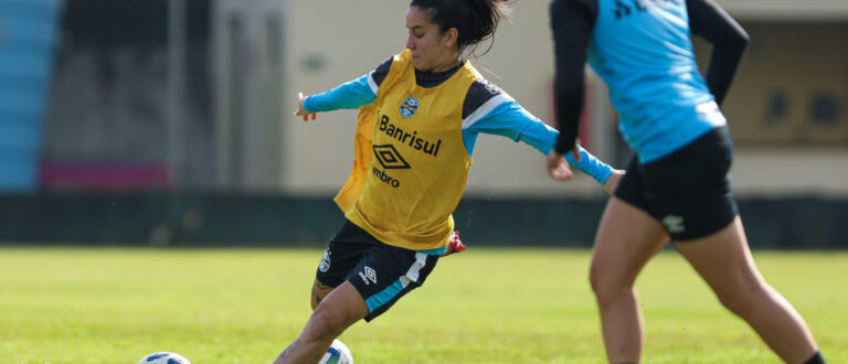
<instances>
[{"instance_id":1,"label":"light blue sleeve on right-hand arm of player in yellow bib","mask_svg":"<svg viewBox=\"0 0 848 364\"><path fill-rule=\"evenodd\" d=\"M473 86L469 89L469 95L466 96L466 104L469 103L469 99L475 98L471 95L475 87L478 86ZM548 154L553 148L559 135L558 131L539 120L539 118L521 107L512 97L495 88L494 85L489 85L488 89L494 96L479 107L474 108L474 111L463 118L464 141L468 153L470 154L474 149L474 136L483 132L524 142L542 152L542 154ZM575 160L572 156L566 156L565 160L569 164L591 175L598 183L604 184L610 174L613 173L613 169L585 151L582 147L576 146L575 148L580 152L580 160Z\"/></svg>"}]
</instances>

